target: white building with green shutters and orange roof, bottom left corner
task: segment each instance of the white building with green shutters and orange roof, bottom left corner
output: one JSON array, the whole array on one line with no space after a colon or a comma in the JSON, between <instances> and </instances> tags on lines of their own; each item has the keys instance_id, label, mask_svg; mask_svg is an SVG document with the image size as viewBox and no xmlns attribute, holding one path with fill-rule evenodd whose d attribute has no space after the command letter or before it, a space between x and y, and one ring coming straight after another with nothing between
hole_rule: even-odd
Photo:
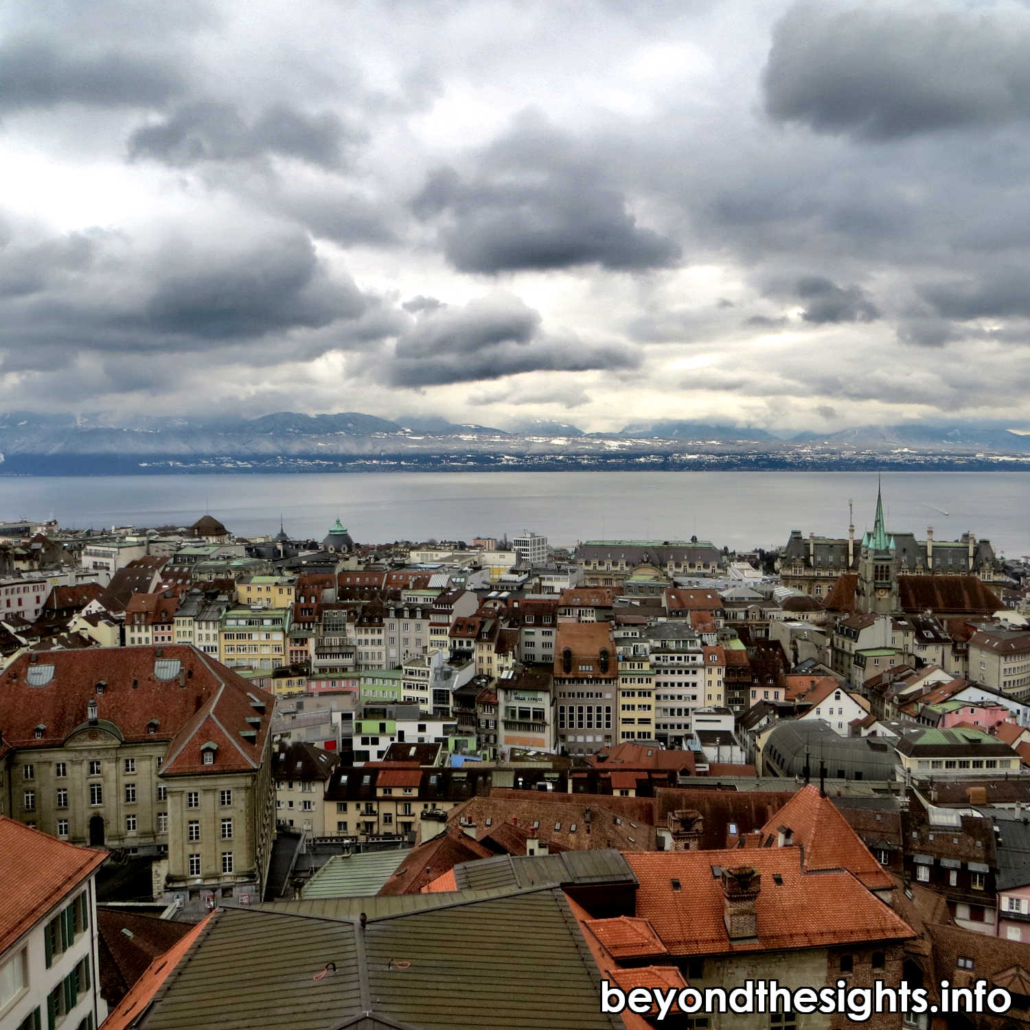
<instances>
[{"instance_id":1,"label":"white building with green shutters and orange roof, bottom left corner","mask_svg":"<svg viewBox=\"0 0 1030 1030\"><path fill-rule=\"evenodd\" d=\"M97 952L97 869L78 848L0 817L0 1027L96 1030L107 1018Z\"/></svg>"}]
</instances>

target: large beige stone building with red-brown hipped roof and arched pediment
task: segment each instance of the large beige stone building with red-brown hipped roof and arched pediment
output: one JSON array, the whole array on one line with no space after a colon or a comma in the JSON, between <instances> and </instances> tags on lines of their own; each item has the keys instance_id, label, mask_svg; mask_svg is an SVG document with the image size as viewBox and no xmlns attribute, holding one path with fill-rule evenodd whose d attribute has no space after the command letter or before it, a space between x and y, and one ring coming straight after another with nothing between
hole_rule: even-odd
<instances>
[{"instance_id":1,"label":"large beige stone building with red-brown hipped roof and arched pediment","mask_svg":"<svg viewBox=\"0 0 1030 1030\"><path fill-rule=\"evenodd\" d=\"M274 829L270 695L173 645L23 655L0 696L11 817L152 857L168 900L261 896Z\"/></svg>"}]
</instances>

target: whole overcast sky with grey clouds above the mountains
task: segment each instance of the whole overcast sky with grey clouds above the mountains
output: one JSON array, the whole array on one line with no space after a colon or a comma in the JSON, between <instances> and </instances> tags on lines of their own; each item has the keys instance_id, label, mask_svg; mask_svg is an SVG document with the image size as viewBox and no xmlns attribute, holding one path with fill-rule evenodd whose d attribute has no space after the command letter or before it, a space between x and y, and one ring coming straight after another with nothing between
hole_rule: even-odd
<instances>
[{"instance_id":1,"label":"whole overcast sky with grey clouds above the mountains","mask_svg":"<svg viewBox=\"0 0 1030 1030\"><path fill-rule=\"evenodd\" d=\"M1030 427L1030 9L0 8L0 410Z\"/></svg>"}]
</instances>

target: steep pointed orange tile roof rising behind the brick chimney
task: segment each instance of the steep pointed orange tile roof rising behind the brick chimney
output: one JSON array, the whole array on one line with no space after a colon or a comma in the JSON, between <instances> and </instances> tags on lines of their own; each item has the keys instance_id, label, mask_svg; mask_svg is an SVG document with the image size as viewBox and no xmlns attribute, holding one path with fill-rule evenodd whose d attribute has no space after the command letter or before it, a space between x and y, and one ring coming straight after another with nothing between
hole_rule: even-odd
<instances>
[{"instance_id":1,"label":"steep pointed orange tile roof rising behind the brick chimney","mask_svg":"<svg viewBox=\"0 0 1030 1030\"><path fill-rule=\"evenodd\" d=\"M870 890L891 886L890 873L815 785L802 787L762 827L763 842L775 845L781 826L789 828L793 844L803 848L806 871L848 869Z\"/></svg>"}]
</instances>

